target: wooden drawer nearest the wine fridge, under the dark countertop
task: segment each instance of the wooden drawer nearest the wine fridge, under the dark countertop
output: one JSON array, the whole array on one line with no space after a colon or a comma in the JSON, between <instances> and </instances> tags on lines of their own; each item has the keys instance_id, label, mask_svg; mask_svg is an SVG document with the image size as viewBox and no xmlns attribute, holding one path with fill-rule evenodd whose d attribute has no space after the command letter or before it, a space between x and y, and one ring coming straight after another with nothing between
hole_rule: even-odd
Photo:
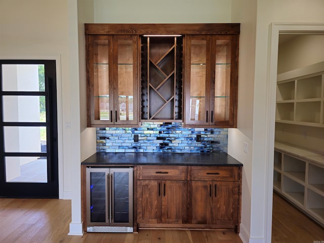
<instances>
[{"instance_id":1,"label":"wooden drawer nearest the wine fridge, under the dark countertop","mask_svg":"<svg viewBox=\"0 0 324 243\"><path fill-rule=\"evenodd\" d=\"M138 180L187 180L186 166L137 166Z\"/></svg>"}]
</instances>

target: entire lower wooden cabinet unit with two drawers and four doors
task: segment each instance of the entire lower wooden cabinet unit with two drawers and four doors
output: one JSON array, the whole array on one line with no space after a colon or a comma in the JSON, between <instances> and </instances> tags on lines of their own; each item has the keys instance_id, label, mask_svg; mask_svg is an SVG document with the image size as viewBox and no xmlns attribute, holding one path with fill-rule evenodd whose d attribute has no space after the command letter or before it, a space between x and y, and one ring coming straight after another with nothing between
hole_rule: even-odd
<instances>
[{"instance_id":1,"label":"entire lower wooden cabinet unit with two drawers and four doors","mask_svg":"<svg viewBox=\"0 0 324 243\"><path fill-rule=\"evenodd\" d=\"M239 232L241 167L137 166L138 228Z\"/></svg>"}]
</instances>

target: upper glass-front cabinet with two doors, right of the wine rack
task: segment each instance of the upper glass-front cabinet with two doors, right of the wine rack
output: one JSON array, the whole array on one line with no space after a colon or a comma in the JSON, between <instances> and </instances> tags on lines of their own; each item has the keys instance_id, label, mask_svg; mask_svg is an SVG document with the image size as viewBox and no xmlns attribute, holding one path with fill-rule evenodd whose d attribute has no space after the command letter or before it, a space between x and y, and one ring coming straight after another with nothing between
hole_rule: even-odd
<instances>
[{"instance_id":1,"label":"upper glass-front cabinet with two doors, right of the wine rack","mask_svg":"<svg viewBox=\"0 0 324 243\"><path fill-rule=\"evenodd\" d=\"M236 127L237 36L186 36L186 126Z\"/></svg>"}]
</instances>

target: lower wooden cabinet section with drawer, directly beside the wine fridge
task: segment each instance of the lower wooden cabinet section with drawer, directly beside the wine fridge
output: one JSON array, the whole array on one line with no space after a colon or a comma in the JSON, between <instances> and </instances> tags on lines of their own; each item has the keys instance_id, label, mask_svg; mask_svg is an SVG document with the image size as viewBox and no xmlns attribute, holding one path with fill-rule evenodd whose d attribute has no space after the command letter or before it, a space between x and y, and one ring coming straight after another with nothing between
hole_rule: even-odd
<instances>
[{"instance_id":1,"label":"lower wooden cabinet section with drawer, directly beside the wine fridge","mask_svg":"<svg viewBox=\"0 0 324 243\"><path fill-rule=\"evenodd\" d=\"M186 169L186 166L138 166L137 222L141 227L186 223Z\"/></svg>"}]
</instances>

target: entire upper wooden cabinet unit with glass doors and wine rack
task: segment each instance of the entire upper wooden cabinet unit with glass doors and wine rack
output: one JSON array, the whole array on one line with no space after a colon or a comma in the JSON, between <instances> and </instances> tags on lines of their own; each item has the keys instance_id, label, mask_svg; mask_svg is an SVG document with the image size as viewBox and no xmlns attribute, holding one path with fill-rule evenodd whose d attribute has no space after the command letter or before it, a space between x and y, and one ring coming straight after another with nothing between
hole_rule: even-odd
<instances>
[{"instance_id":1,"label":"entire upper wooden cabinet unit with glass doors and wine rack","mask_svg":"<svg viewBox=\"0 0 324 243\"><path fill-rule=\"evenodd\" d=\"M239 24L86 24L85 33L88 126L236 127Z\"/></svg>"}]
</instances>

